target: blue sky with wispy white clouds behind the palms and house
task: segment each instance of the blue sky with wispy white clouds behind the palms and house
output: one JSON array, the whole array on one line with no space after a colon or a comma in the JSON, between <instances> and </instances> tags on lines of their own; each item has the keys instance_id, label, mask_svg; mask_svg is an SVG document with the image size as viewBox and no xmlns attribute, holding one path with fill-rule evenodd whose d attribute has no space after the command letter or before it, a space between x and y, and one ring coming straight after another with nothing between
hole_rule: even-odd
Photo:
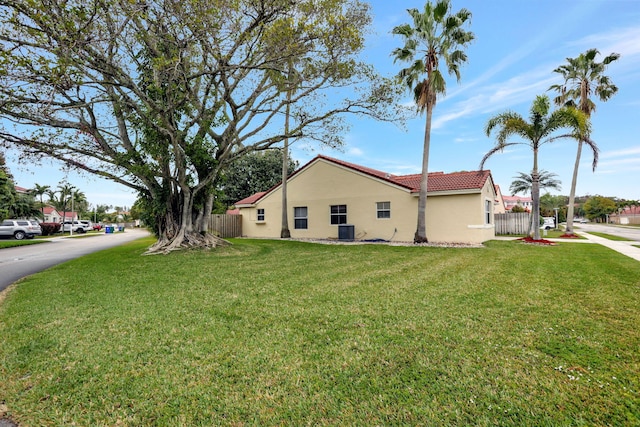
<instances>
[{"instance_id":1,"label":"blue sky with wispy white clouds behind the palms and house","mask_svg":"<svg viewBox=\"0 0 640 427\"><path fill-rule=\"evenodd\" d=\"M364 59L383 75L396 74L404 64L394 64L391 51L402 45L391 30L409 22L408 8L422 9L422 0L372 0L374 23ZM467 49L468 63L462 80L447 82L446 97L434 111L431 137L431 171L454 172L478 169L483 155L495 144L484 134L487 120L512 110L528 118L536 95L549 93L560 83L553 70L587 49L601 56L612 52L621 58L606 74L619 92L606 103L597 102L592 116L592 138L600 147L600 162L591 171L592 157L583 150L578 195L617 196L640 199L640 2L637 0L453 0L454 10L469 9L470 30L476 39ZM411 98L407 93L406 102ZM393 174L419 173L424 116L410 120L406 129L372 119L348 118L351 129L342 151L292 145L292 157L304 164L317 154L336 157ZM576 143L560 140L540 151L541 169L554 172L562 181L559 194L569 194ZM34 166L25 171L7 163L17 185L34 183L55 187L64 178L55 166ZM509 194L518 172L529 172L532 153L527 146L511 147L495 154L485 165L494 180ZM94 204L131 206L135 201L125 187L87 176L68 175ZM558 194L558 192L552 192Z\"/></svg>"}]
</instances>

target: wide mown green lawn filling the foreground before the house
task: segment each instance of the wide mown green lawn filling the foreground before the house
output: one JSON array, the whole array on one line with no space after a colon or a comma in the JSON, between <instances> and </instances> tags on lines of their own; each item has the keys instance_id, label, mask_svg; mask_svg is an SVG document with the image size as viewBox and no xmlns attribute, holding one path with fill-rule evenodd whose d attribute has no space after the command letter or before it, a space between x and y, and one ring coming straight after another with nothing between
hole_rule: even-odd
<instances>
[{"instance_id":1,"label":"wide mown green lawn filling the foreground before the house","mask_svg":"<svg viewBox=\"0 0 640 427\"><path fill-rule=\"evenodd\" d=\"M640 268L600 245L145 239L0 306L20 425L640 424ZM1 416L0 416L1 418Z\"/></svg>"}]
</instances>

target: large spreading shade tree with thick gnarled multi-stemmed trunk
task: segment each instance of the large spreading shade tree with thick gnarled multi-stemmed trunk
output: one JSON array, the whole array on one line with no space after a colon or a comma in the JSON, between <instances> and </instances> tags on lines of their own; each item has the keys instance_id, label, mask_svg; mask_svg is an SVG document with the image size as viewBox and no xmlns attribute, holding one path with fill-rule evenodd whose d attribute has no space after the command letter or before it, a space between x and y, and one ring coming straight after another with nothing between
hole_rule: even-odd
<instances>
[{"instance_id":1,"label":"large spreading shade tree with thick gnarled multi-stemmed trunk","mask_svg":"<svg viewBox=\"0 0 640 427\"><path fill-rule=\"evenodd\" d=\"M220 243L208 215L234 159L340 144L345 113L392 119L395 88L358 61L358 0L6 1L0 16L0 141L138 191L150 252ZM304 111L285 132L287 106Z\"/></svg>"}]
</instances>

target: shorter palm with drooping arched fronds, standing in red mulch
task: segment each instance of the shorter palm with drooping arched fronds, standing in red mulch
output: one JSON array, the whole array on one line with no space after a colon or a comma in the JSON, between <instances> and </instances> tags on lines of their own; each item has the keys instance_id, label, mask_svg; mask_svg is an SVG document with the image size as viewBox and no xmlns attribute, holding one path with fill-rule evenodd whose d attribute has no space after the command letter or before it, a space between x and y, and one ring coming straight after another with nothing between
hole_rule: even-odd
<instances>
[{"instance_id":1,"label":"shorter palm with drooping arched fronds, standing in red mulch","mask_svg":"<svg viewBox=\"0 0 640 427\"><path fill-rule=\"evenodd\" d=\"M540 223L540 172L538 171L538 150L540 147L558 138L573 137L575 134L588 134L587 117L575 108L561 108L549 113L549 97L539 95L533 101L530 110L530 121L527 122L518 113L508 111L492 117L487 122L485 132L491 136L491 132L498 128L496 145L482 158L480 169L485 162L498 151L502 152L506 147L518 144L529 145L533 150L533 168L531 169L531 200L533 224ZM569 129L571 134L554 136L561 129ZM524 139L524 142L509 142L512 136ZM589 141L589 140L588 140ZM591 142L593 143L593 142ZM540 240L540 228L535 226L534 239Z\"/></svg>"}]
</instances>

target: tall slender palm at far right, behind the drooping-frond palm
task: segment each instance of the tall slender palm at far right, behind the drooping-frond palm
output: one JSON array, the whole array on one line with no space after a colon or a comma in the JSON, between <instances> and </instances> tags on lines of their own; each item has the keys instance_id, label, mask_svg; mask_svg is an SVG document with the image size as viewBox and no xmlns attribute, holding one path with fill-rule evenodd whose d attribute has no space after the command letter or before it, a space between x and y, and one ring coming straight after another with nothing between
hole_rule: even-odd
<instances>
[{"instance_id":1,"label":"tall slender palm at far right, behind the drooping-frond palm","mask_svg":"<svg viewBox=\"0 0 640 427\"><path fill-rule=\"evenodd\" d=\"M577 58L567 58L567 64L561 65L553 70L555 73L561 74L564 78L563 84L553 85L549 88L549 90L555 90L559 93L554 99L556 105L578 108L586 114L587 117L591 117L591 113L596 109L595 103L590 99L592 92L603 102L618 92L617 86L611 82L609 77L604 76L602 73L604 73L608 64L620 57L620 54L612 53L604 58L602 62L596 62L595 57L599 53L597 49L589 49ZM567 211L566 233L568 234L573 233L573 209L583 142L585 142L584 138L578 139L578 153L576 155L576 163L573 167L573 178L571 180L569 207ZM590 147L593 149L593 170L595 170L598 165L598 147L591 145Z\"/></svg>"}]
</instances>

